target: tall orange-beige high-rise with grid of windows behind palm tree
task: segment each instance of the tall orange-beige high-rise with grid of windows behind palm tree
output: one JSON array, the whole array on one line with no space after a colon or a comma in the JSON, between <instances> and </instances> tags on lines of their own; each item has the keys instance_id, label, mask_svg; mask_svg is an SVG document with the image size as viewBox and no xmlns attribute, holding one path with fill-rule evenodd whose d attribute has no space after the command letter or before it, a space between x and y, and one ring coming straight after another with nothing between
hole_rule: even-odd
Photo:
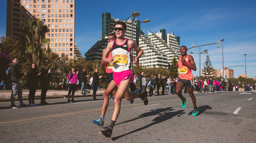
<instances>
[{"instance_id":1,"label":"tall orange-beige high-rise with grid of windows behind palm tree","mask_svg":"<svg viewBox=\"0 0 256 143\"><path fill-rule=\"evenodd\" d=\"M51 51L74 59L75 0L7 0L6 36L18 39L29 18L40 18L48 26Z\"/></svg>"}]
</instances>

